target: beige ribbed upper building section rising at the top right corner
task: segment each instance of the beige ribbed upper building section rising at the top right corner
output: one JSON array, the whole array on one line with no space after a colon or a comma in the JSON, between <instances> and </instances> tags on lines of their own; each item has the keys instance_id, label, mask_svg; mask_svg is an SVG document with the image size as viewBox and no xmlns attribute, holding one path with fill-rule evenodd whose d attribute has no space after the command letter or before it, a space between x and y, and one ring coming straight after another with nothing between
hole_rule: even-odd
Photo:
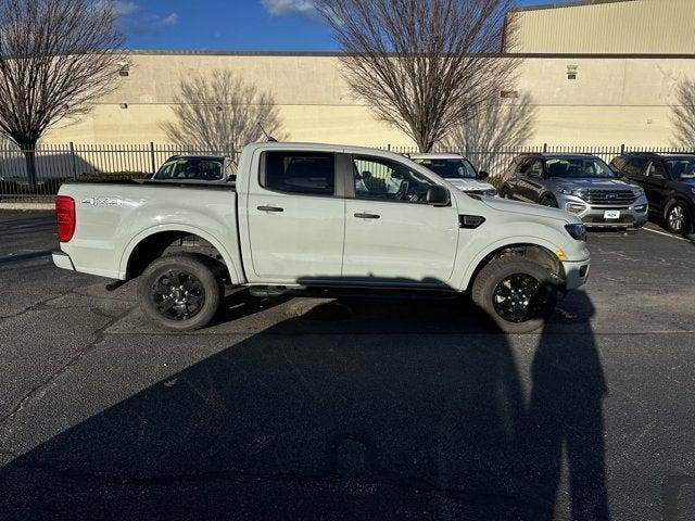
<instances>
[{"instance_id":1,"label":"beige ribbed upper building section rising at the top right corner","mask_svg":"<svg viewBox=\"0 0 695 521\"><path fill-rule=\"evenodd\" d=\"M695 54L693 0L586 0L508 16L509 52Z\"/></svg>"}]
</instances>

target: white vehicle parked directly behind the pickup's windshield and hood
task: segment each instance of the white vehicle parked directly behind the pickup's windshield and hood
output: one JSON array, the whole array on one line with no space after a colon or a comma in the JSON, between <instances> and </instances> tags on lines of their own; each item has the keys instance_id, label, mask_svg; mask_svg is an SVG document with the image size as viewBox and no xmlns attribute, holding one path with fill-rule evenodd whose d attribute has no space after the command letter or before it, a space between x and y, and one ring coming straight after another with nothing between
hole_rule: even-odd
<instances>
[{"instance_id":1,"label":"white vehicle parked directly behind the pickup's windshield and hood","mask_svg":"<svg viewBox=\"0 0 695 521\"><path fill-rule=\"evenodd\" d=\"M414 162L446 179L457 189L469 194L497 195L495 187L485 182L486 171L478 171L468 158L458 154L408 154Z\"/></svg>"}]
</instances>

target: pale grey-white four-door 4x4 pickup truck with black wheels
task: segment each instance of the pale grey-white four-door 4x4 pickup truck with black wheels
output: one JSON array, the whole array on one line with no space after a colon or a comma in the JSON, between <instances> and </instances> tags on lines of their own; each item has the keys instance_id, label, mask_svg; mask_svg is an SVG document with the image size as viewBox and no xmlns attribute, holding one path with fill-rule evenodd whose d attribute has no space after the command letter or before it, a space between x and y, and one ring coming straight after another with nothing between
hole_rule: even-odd
<instances>
[{"instance_id":1,"label":"pale grey-white four-door 4x4 pickup truck with black wheels","mask_svg":"<svg viewBox=\"0 0 695 521\"><path fill-rule=\"evenodd\" d=\"M394 174L396 192L384 182ZM236 182L70 182L55 205L55 265L139 278L143 312L179 331L207 325L225 287L249 287L469 292L502 330L526 332L590 263L578 217L467 195L402 155L355 147L254 143Z\"/></svg>"}]
</instances>

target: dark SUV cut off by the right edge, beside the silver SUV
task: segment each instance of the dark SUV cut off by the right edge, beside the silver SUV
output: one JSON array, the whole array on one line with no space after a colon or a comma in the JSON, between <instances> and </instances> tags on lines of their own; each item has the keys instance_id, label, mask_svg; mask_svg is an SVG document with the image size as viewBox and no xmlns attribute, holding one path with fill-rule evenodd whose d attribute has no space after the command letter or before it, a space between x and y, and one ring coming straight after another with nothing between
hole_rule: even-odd
<instances>
[{"instance_id":1,"label":"dark SUV cut off by the right edge, beside the silver SUV","mask_svg":"<svg viewBox=\"0 0 695 521\"><path fill-rule=\"evenodd\" d=\"M662 218L669 231L693 232L695 154L630 153L615 157L610 167L644 189L650 213Z\"/></svg>"}]
</instances>

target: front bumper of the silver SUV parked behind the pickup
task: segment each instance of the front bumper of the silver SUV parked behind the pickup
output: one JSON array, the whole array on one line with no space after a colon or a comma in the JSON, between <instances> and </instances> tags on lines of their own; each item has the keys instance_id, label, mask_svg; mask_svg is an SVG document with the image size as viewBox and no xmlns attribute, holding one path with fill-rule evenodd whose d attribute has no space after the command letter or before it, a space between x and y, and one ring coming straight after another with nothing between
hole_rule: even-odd
<instances>
[{"instance_id":1,"label":"front bumper of the silver SUV parked behind the pickup","mask_svg":"<svg viewBox=\"0 0 695 521\"><path fill-rule=\"evenodd\" d=\"M576 215L587 228L641 228L647 221L649 205L645 196L629 205L592 205L577 195L557 194L558 206ZM606 212L618 212L618 217L606 217Z\"/></svg>"}]
</instances>

